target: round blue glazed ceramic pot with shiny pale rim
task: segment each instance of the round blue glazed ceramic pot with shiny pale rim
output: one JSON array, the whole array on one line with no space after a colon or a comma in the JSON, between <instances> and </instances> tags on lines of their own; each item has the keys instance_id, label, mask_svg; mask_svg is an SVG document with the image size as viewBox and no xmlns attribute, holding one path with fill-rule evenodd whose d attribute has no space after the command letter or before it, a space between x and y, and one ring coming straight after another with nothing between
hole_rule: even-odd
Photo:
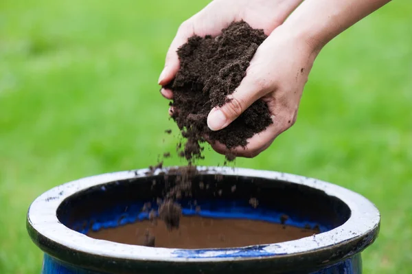
<instances>
[{"instance_id":1,"label":"round blue glazed ceramic pot with shiny pale rim","mask_svg":"<svg viewBox=\"0 0 412 274\"><path fill-rule=\"evenodd\" d=\"M43 274L362 273L361 251L374 242L380 225L378 209L363 196L292 174L197 169L192 197L181 201L183 214L279 223L285 223L281 216L286 214L286 225L316 225L321 233L228 249L163 249L96 240L86 236L87 231L148 218L141 207L179 176L168 168L115 172L54 187L32 203L27 230L45 252ZM216 174L222 181L216 181ZM209 187L201 190L199 185ZM216 190L222 195L215 196ZM251 197L259 201L256 209L249 205ZM194 199L201 212L191 205Z\"/></svg>"}]
</instances>

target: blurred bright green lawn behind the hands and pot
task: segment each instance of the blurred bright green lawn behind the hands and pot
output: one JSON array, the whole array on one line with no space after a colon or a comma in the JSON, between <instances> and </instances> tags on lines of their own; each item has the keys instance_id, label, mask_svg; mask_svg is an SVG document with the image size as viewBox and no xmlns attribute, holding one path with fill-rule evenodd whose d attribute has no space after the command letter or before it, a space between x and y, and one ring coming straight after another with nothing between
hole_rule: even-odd
<instances>
[{"instance_id":1,"label":"blurred bright green lawn behind the hands and pot","mask_svg":"<svg viewBox=\"0 0 412 274\"><path fill-rule=\"evenodd\" d=\"M1 274L40 272L41 251L25 231L36 196L174 151L157 77L179 23L206 3L0 1ZM314 176L376 203L382 228L365 273L412 273L411 14L411 1L393 1L332 41L297 124L258 158L236 162ZM222 163L206 156L203 165Z\"/></svg>"}]
</instances>

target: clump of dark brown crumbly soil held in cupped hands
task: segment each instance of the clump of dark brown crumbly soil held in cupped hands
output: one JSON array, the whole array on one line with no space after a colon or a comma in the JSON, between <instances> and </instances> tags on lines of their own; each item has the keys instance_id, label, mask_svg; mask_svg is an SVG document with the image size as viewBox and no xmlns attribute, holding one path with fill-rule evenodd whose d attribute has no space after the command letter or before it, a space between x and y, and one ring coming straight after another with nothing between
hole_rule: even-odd
<instances>
[{"instance_id":1,"label":"clump of dark brown crumbly soil held in cupped hands","mask_svg":"<svg viewBox=\"0 0 412 274\"><path fill-rule=\"evenodd\" d=\"M165 88L173 91L172 118L187 139L182 153L187 160L202 158L205 136L229 149L244 147L247 139L273 123L268 106L258 100L227 128L212 131L207 127L207 115L215 106L229 102L227 95L242 82L266 37L263 30L240 21L231 23L217 37L192 36L177 51L181 67Z\"/></svg>"}]
</instances>

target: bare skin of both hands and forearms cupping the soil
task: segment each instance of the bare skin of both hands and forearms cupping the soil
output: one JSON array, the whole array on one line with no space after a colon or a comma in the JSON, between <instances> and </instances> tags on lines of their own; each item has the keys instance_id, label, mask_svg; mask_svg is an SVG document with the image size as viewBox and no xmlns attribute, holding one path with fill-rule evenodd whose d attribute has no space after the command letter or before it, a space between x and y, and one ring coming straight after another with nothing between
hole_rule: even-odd
<instances>
[{"instance_id":1,"label":"bare skin of both hands and forearms cupping the soil","mask_svg":"<svg viewBox=\"0 0 412 274\"><path fill-rule=\"evenodd\" d=\"M268 104L273 124L248 139L246 147L230 150L238 157L255 157L295 124L302 92L321 49L389 1L214 0L179 27L168 50L159 84L168 84L179 71L176 50L190 36L216 36L230 23L240 20L253 28L263 29L268 38L253 56L247 75L228 96L227 104L212 109L207 117L209 128L220 130L262 98ZM165 98L173 97L168 89L161 89L161 93ZM229 152L218 142L212 142L211 146L222 154Z\"/></svg>"}]
</instances>

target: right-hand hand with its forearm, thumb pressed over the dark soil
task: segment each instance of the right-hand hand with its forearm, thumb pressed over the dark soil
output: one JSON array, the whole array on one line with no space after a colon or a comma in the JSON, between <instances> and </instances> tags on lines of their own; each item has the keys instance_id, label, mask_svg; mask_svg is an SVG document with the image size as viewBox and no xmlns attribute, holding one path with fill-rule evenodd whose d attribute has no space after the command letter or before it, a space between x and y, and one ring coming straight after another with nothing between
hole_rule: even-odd
<instances>
[{"instance_id":1,"label":"right-hand hand with its forearm, thumb pressed over the dark soil","mask_svg":"<svg viewBox=\"0 0 412 274\"><path fill-rule=\"evenodd\" d=\"M304 85L321 48L388 2L389 0L304 1L260 45L247 69L247 75L231 95L233 100L209 113L209 128L224 128L255 100L262 98L268 104L273 124L249 139L247 148L236 148L233 154L255 157L268 148L277 135L295 123ZM222 144L211 145L218 152L227 152Z\"/></svg>"}]
</instances>

